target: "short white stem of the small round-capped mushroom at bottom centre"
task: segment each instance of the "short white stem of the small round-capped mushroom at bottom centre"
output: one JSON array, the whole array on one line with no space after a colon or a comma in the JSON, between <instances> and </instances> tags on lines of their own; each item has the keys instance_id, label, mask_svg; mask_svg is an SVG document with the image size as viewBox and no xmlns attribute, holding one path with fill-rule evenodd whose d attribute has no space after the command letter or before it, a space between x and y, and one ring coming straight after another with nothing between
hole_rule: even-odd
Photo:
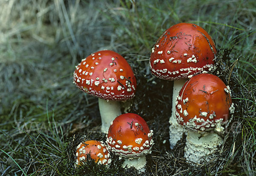
<instances>
[{"instance_id":1,"label":"short white stem of the small round-capped mushroom at bottom centre","mask_svg":"<svg viewBox=\"0 0 256 176\"><path fill-rule=\"evenodd\" d=\"M134 159L128 159L128 158L124 158L125 161L122 164L122 167L135 167L135 169L139 170L140 172L145 172L145 165L147 163L146 157L145 156L140 156L138 158L134 158Z\"/></svg>"}]
</instances>

